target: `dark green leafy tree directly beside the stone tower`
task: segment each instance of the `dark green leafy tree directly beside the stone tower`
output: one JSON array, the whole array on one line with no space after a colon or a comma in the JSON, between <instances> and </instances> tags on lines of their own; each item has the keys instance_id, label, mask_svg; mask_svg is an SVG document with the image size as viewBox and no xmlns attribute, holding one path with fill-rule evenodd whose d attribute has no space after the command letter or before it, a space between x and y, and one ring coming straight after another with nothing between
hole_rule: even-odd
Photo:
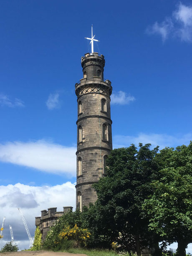
<instances>
[{"instance_id":1,"label":"dark green leafy tree directly beside the stone tower","mask_svg":"<svg viewBox=\"0 0 192 256\"><path fill-rule=\"evenodd\" d=\"M152 193L151 180L157 178L158 165L154 160L158 147L132 144L111 151L106 165L107 177L94 188L98 195L89 222L90 232L103 235L109 241L119 241L127 251L141 255L141 247L149 245L153 233L142 203ZM95 209L94 209L95 208Z\"/></svg>"}]
</instances>

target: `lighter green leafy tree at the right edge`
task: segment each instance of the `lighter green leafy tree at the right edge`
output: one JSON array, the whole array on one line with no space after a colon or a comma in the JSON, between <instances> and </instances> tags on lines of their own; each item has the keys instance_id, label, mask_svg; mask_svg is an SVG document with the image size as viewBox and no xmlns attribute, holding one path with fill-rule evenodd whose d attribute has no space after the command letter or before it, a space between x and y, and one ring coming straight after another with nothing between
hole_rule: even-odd
<instances>
[{"instance_id":1,"label":"lighter green leafy tree at the right edge","mask_svg":"<svg viewBox=\"0 0 192 256\"><path fill-rule=\"evenodd\" d=\"M185 256L192 243L192 142L165 148L156 156L159 179L154 193L145 200L149 227L168 243L177 242L177 255Z\"/></svg>"}]
</instances>

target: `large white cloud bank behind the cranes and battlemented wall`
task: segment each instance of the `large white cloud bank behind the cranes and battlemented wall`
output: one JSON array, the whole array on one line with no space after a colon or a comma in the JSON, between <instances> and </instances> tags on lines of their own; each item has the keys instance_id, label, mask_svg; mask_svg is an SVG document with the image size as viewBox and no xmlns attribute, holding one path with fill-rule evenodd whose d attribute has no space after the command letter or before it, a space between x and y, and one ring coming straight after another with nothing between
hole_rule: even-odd
<instances>
[{"instance_id":1,"label":"large white cloud bank behind the cranes and battlemented wall","mask_svg":"<svg viewBox=\"0 0 192 256\"><path fill-rule=\"evenodd\" d=\"M9 224L13 228L13 236L19 248L24 249L29 247L28 236L17 209L18 207L22 208L31 236L34 236L35 232L35 217L40 216L41 210L57 207L57 211L63 211L63 206L72 206L73 210L75 210L76 189L75 185L71 182L52 187L35 187L20 183L0 186L0 195L0 205L4 205L1 207L0 223L3 221L3 216L6 217L3 239L0 243L1 247L7 241L11 240ZM14 198L8 200L13 195ZM13 203L15 198L16 200Z\"/></svg>"}]
</instances>

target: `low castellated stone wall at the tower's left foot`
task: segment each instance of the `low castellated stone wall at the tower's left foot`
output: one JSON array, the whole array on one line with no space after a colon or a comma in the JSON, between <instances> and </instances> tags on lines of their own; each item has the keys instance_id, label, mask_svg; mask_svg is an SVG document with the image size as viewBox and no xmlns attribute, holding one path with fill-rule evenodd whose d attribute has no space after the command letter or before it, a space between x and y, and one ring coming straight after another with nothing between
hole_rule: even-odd
<instances>
[{"instance_id":1,"label":"low castellated stone wall at the tower's left foot","mask_svg":"<svg viewBox=\"0 0 192 256\"><path fill-rule=\"evenodd\" d=\"M42 210L40 217L35 217L35 226L39 227L40 232L42 233L42 240L44 241L50 227L54 226L57 219L63 214L72 211L73 207L64 206L62 212L57 212L57 207L48 208L48 210Z\"/></svg>"}]
</instances>

